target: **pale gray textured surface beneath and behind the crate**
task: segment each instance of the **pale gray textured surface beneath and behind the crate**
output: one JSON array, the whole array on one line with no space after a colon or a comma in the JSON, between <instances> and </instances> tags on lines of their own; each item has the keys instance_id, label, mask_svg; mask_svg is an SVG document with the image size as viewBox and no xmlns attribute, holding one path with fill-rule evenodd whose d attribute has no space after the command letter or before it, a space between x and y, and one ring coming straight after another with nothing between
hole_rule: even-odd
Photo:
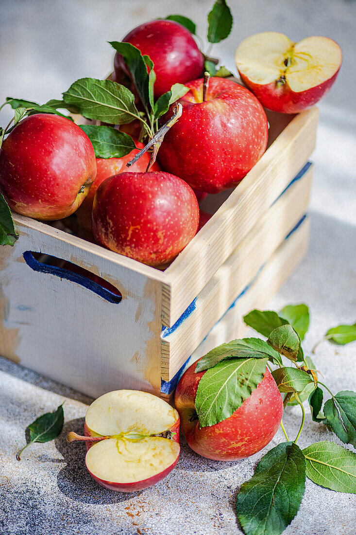
<instances>
[{"instance_id":1,"label":"pale gray textured surface beneath and behind the crate","mask_svg":"<svg viewBox=\"0 0 356 535\"><path fill-rule=\"evenodd\" d=\"M182 13L205 32L205 13L212 2L184 0L67 0L0 2L0 100L6 95L44 102L60 96L76 78L102 77L110 71L112 53L106 41L120 39L139 22ZM340 43L344 64L335 87L320 105L318 145L313 155L315 180L311 201L309 253L270 303L308 303L312 322L308 350L328 327L356 319L356 86L354 68L356 3L342 0L263 2L233 1L235 26L216 55L234 68L233 51L245 36L273 29L299 40L328 35ZM6 121L6 111L2 123ZM10 118L10 113L9 113ZM1 253L1 251L0 251ZM40 342L40 341L39 341ZM328 343L314 357L331 390L356 389L356 344L336 348ZM65 442L68 430L82 431L84 396L0 359L0 528L6 534L183 534L238 533L234 513L239 485L248 479L265 452L241 462L220 463L198 457L182 441L174 472L155 487L134 494L105 491L84 468L84 447ZM38 415L63 400L65 428L49 444L24 444L24 429ZM297 408L288 409L284 424L291 437L299 426ZM283 440L278 431L271 446ZM299 444L336 440L307 416ZM267 448L268 449L268 448ZM267 451L267 449L265 451ZM286 535L353 535L354 495L332 492L307 481L300 511Z\"/></svg>"}]
</instances>

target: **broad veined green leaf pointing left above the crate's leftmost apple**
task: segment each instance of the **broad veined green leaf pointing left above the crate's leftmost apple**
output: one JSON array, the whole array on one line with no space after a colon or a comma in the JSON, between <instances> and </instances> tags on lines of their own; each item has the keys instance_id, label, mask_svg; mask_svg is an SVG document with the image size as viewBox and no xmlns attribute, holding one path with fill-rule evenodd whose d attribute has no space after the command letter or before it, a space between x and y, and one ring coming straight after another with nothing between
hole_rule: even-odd
<instances>
[{"instance_id":1,"label":"broad veined green leaf pointing left above the crate's leftmost apple","mask_svg":"<svg viewBox=\"0 0 356 535\"><path fill-rule=\"evenodd\" d=\"M130 123L140 117L131 91L111 80L81 78L63 93L63 98L66 103L77 106L87 119L111 125Z\"/></svg>"}]
</instances>

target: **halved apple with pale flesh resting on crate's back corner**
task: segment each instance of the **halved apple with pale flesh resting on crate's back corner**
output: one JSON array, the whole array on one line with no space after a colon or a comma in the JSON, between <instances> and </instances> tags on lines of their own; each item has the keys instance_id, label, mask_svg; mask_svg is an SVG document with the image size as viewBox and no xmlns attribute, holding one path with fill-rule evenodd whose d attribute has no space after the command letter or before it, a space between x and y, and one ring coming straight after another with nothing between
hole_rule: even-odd
<instances>
[{"instance_id":1,"label":"halved apple with pale flesh resting on crate's back corner","mask_svg":"<svg viewBox=\"0 0 356 535\"><path fill-rule=\"evenodd\" d=\"M287 35L263 32L239 44L235 62L245 86L265 108L298 113L331 88L342 51L328 37L314 35L293 43Z\"/></svg>"}]
</instances>

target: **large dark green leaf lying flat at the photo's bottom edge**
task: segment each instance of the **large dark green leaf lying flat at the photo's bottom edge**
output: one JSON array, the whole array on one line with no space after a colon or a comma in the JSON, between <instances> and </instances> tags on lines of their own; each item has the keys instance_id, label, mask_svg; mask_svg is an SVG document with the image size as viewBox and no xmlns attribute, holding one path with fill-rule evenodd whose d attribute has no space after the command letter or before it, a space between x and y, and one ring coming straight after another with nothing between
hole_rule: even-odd
<instances>
[{"instance_id":1,"label":"large dark green leaf lying flat at the photo's bottom edge","mask_svg":"<svg viewBox=\"0 0 356 535\"><path fill-rule=\"evenodd\" d=\"M237 495L237 517L246 535L280 535L298 513L305 488L305 457L283 442L261 458Z\"/></svg>"}]
</instances>

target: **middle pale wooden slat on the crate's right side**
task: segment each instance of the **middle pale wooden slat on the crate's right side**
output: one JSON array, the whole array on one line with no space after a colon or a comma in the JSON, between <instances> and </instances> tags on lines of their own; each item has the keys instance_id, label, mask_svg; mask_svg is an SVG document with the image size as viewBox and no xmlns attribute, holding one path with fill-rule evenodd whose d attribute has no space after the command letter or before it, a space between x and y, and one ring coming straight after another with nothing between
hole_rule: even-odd
<instances>
[{"instance_id":1,"label":"middle pale wooden slat on the crate's right side","mask_svg":"<svg viewBox=\"0 0 356 535\"><path fill-rule=\"evenodd\" d=\"M224 314L304 215L311 184L312 167L309 167L303 178L292 184L270 207L216 271L197 296L195 309L177 328L166 328L162 332L161 374L164 380L174 377L216 323L216 318Z\"/></svg>"}]
</instances>

